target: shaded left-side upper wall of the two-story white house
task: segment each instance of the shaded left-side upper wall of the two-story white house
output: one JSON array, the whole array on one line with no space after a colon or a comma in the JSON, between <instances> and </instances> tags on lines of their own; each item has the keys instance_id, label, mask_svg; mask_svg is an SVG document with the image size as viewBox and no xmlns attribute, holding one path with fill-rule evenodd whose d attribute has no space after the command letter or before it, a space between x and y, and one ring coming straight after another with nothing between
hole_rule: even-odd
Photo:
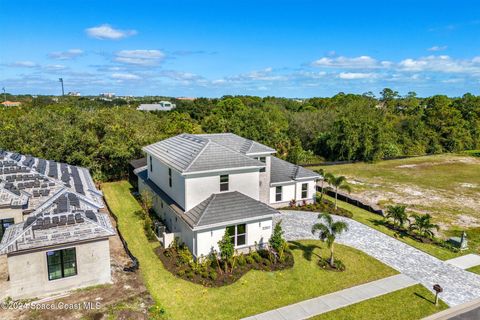
<instances>
[{"instance_id":1,"label":"shaded left-side upper wall of the two-story white house","mask_svg":"<svg viewBox=\"0 0 480 320\"><path fill-rule=\"evenodd\" d=\"M150 158L152 162L152 171L150 170ZM185 208L185 178L176 170L172 169L172 187L168 180L168 166L155 157L147 154L147 172L148 178L152 180L160 189L168 194L179 206Z\"/></svg>"}]
</instances>

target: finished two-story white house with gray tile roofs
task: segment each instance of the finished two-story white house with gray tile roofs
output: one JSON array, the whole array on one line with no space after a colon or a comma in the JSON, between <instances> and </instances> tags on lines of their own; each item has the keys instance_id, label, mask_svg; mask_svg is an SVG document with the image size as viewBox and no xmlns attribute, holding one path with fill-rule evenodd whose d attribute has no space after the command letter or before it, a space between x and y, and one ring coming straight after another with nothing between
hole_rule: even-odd
<instances>
[{"instance_id":1,"label":"finished two-story white house with gray tile roofs","mask_svg":"<svg viewBox=\"0 0 480 320\"><path fill-rule=\"evenodd\" d=\"M154 195L168 228L195 257L218 251L229 231L239 251L263 247L272 234L272 207L315 200L320 176L273 156L274 149L235 134L181 134L143 148L139 191Z\"/></svg>"}]
</instances>

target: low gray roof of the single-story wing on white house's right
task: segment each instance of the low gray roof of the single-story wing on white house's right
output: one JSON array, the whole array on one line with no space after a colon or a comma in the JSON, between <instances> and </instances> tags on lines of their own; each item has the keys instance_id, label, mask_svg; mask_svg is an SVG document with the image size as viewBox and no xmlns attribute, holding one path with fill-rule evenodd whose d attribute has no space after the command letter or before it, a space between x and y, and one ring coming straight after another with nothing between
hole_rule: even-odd
<instances>
[{"instance_id":1,"label":"low gray roof of the single-story wing on white house's right","mask_svg":"<svg viewBox=\"0 0 480 320\"><path fill-rule=\"evenodd\" d=\"M272 156L270 183L289 182L302 178L320 179L320 175L302 166Z\"/></svg>"}]
</instances>

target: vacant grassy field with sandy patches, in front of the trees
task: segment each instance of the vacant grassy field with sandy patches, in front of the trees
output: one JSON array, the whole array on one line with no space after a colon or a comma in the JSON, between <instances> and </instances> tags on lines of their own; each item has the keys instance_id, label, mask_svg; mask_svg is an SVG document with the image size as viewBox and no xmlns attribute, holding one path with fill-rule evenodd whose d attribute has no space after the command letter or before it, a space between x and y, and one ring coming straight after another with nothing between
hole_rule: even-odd
<instances>
[{"instance_id":1,"label":"vacant grassy field with sandy patches, in front of the trees","mask_svg":"<svg viewBox=\"0 0 480 320\"><path fill-rule=\"evenodd\" d=\"M406 204L411 210L430 213L444 229L480 226L478 157L443 154L323 169L346 176L353 195L381 207Z\"/></svg>"}]
</instances>

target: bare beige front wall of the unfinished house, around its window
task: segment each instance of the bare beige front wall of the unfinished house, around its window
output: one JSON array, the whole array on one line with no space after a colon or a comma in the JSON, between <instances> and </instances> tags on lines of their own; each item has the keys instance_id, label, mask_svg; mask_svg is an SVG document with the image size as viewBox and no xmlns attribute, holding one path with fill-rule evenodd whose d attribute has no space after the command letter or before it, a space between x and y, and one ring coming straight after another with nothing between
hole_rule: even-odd
<instances>
[{"instance_id":1,"label":"bare beige front wall of the unfinished house, around its window","mask_svg":"<svg viewBox=\"0 0 480 320\"><path fill-rule=\"evenodd\" d=\"M47 251L50 250L9 255L8 296L33 298L111 282L108 239L51 250L72 247L76 248L77 275L57 280L48 280Z\"/></svg>"}]
</instances>

